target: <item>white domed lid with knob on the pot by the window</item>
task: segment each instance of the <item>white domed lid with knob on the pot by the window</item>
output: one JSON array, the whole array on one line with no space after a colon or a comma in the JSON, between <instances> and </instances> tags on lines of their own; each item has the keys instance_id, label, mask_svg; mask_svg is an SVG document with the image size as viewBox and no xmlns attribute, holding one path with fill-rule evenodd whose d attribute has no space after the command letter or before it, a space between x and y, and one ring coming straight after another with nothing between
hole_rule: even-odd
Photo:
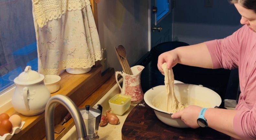
<instances>
[{"instance_id":1,"label":"white domed lid with knob on the pot by the window","mask_svg":"<svg viewBox=\"0 0 256 140\"><path fill-rule=\"evenodd\" d=\"M14 79L16 84L29 85L38 83L44 80L44 75L39 74L38 72L31 70L30 66L27 66L24 72L20 73L18 77Z\"/></svg>"}]
</instances>

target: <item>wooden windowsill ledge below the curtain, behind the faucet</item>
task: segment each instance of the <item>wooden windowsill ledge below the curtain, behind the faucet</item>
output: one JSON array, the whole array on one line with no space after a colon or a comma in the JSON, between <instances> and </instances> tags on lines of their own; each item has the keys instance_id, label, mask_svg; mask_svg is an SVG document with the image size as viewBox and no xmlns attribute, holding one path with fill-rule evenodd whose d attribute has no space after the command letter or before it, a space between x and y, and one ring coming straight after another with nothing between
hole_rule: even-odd
<instances>
[{"instance_id":1,"label":"wooden windowsill ledge below the curtain, behind the faucet","mask_svg":"<svg viewBox=\"0 0 256 140\"><path fill-rule=\"evenodd\" d=\"M85 74L73 75L67 72L62 73L60 90L52 93L51 96L62 94L68 96L78 108L84 108L85 105L94 105L97 103L115 84L115 70L108 68L101 73L102 66L93 67L91 71ZM25 116L17 113L13 108L6 111L8 115L18 114L25 124L22 130L13 135L10 140L42 140L45 139L45 113L35 116ZM57 104L54 110L54 124L59 124L68 113L67 109ZM55 134L55 140L61 139L74 125L71 118L63 126L64 130L60 134Z\"/></svg>"}]
</instances>

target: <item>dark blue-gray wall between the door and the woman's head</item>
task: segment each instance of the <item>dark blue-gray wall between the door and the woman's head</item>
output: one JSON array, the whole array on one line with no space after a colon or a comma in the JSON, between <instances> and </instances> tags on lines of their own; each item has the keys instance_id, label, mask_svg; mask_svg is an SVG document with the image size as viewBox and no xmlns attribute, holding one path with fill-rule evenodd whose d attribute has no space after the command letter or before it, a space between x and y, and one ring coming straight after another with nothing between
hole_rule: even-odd
<instances>
[{"instance_id":1,"label":"dark blue-gray wall between the door and the woman's head","mask_svg":"<svg viewBox=\"0 0 256 140\"><path fill-rule=\"evenodd\" d=\"M204 0L175 0L174 11L174 40L190 45L225 38L241 27L228 0L213 0L213 7L204 7Z\"/></svg>"}]
</instances>

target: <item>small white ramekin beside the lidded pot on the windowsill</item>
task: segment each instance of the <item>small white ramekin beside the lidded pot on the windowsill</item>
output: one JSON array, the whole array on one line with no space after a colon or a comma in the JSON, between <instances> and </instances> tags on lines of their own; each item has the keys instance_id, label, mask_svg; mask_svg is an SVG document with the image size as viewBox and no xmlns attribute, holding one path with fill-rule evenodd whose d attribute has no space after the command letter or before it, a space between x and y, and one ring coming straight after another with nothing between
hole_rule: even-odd
<instances>
[{"instance_id":1,"label":"small white ramekin beside the lidded pot on the windowsill","mask_svg":"<svg viewBox=\"0 0 256 140\"><path fill-rule=\"evenodd\" d=\"M60 89L61 77L58 75L45 75L44 84L50 93L57 92Z\"/></svg>"}]
</instances>

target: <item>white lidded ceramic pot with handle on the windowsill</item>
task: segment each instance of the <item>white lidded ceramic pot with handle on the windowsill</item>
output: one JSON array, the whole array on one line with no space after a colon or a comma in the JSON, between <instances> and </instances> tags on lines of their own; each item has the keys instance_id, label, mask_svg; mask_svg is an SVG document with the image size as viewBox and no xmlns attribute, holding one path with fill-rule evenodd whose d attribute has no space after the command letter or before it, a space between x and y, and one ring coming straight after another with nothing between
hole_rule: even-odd
<instances>
[{"instance_id":1,"label":"white lidded ceramic pot with handle on the windowsill","mask_svg":"<svg viewBox=\"0 0 256 140\"><path fill-rule=\"evenodd\" d=\"M44 85L44 75L27 66L24 72L14 79L14 83L16 88L12 96L12 105L18 113L32 116L44 112L51 97Z\"/></svg>"}]
</instances>

